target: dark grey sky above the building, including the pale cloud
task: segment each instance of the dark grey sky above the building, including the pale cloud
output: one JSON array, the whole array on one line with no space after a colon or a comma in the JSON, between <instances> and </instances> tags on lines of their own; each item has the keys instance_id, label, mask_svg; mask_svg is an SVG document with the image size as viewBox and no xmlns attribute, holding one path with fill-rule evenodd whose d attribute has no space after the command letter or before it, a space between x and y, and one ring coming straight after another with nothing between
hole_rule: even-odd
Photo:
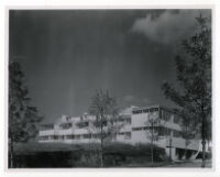
<instances>
[{"instance_id":1,"label":"dark grey sky above the building, including the pale cloud","mask_svg":"<svg viewBox=\"0 0 220 177\"><path fill-rule=\"evenodd\" d=\"M209 10L10 11L10 59L26 76L32 103L52 122L79 115L105 88L120 106L170 106L174 56Z\"/></svg>"}]
</instances>

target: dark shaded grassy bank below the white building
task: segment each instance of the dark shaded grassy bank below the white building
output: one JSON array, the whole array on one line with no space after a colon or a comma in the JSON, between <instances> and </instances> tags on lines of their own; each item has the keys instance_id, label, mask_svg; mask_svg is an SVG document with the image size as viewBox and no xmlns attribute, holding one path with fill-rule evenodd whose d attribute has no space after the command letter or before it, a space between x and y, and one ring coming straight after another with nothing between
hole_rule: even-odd
<instances>
[{"instance_id":1,"label":"dark shaded grassy bank below the white building","mask_svg":"<svg viewBox=\"0 0 220 177\"><path fill-rule=\"evenodd\" d=\"M16 144L15 168L99 167L97 144ZM155 164L165 162L164 150L155 147ZM150 144L112 143L105 146L105 167L147 166L151 162ZM139 165L138 165L139 164Z\"/></svg>"}]
</instances>

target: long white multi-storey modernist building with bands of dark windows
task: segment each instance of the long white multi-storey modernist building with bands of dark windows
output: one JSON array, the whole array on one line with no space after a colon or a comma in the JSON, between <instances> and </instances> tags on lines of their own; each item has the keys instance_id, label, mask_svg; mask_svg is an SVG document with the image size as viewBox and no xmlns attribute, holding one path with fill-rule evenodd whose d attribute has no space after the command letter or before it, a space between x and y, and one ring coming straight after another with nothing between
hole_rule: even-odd
<instances>
[{"instance_id":1,"label":"long white multi-storey modernist building with bands of dark windows","mask_svg":"<svg viewBox=\"0 0 220 177\"><path fill-rule=\"evenodd\" d=\"M200 140L186 142L182 137L180 118L169 109L161 106L144 108L130 107L120 112L119 131L111 141L136 144L153 143L165 150L173 159L185 158L186 148L188 157L195 158L200 148ZM95 128L96 117L82 114L81 117L62 115L54 124L38 132L38 142L62 143L99 143L99 133Z\"/></svg>"}]
</instances>

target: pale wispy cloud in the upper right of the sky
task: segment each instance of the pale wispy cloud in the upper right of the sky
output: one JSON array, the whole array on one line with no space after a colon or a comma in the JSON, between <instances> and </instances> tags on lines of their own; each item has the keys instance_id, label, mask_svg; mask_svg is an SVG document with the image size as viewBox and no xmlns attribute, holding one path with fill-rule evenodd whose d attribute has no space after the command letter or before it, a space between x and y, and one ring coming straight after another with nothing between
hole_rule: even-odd
<instances>
[{"instance_id":1,"label":"pale wispy cloud in the upper right of the sky","mask_svg":"<svg viewBox=\"0 0 220 177\"><path fill-rule=\"evenodd\" d=\"M202 13L210 15L210 10L180 10L165 11L158 18L147 14L145 18L134 21L132 32L144 34L148 40L172 45L178 42L195 29L195 18Z\"/></svg>"}]
</instances>

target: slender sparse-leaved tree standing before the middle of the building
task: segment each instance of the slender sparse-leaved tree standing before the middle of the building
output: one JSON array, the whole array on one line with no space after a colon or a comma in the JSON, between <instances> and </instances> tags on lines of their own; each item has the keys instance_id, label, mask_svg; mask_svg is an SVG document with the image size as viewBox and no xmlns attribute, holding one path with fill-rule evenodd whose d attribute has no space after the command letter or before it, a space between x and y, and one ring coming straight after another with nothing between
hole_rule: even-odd
<instances>
[{"instance_id":1,"label":"slender sparse-leaved tree standing before the middle of the building","mask_svg":"<svg viewBox=\"0 0 220 177\"><path fill-rule=\"evenodd\" d=\"M96 136L100 141L100 166L103 167L105 142L116 136L120 129L117 122L119 108L116 98L110 97L108 90L98 90L91 98L89 113L96 115L94 128Z\"/></svg>"}]
</instances>

